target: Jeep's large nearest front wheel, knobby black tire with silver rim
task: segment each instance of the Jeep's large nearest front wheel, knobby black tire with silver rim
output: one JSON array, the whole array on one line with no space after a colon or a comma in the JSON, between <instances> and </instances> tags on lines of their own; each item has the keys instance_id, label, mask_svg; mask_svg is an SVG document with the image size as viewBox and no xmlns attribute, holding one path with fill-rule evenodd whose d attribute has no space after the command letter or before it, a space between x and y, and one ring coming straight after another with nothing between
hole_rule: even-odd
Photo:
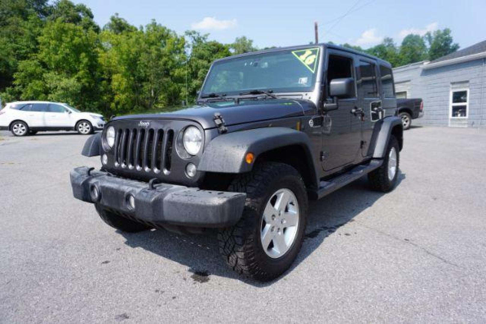
<instances>
[{"instance_id":1,"label":"Jeep's large nearest front wheel, knobby black tire with silver rim","mask_svg":"<svg viewBox=\"0 0 486 324\"><path fill-rule=\"evenodd\" d=\"M242 219L218 233L219 249L236 272L270 281L294 262L302 245L308 199L302 177L293 167L256 165L229 186L246 192Z\"/></svg>"}]
</instances>

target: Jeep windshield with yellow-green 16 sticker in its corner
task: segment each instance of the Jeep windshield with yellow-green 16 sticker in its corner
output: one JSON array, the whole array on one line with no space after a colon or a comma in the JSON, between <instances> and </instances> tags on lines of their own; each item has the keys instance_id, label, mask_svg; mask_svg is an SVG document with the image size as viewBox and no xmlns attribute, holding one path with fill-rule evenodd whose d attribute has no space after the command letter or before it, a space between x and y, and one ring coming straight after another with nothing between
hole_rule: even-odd
<instances>
[{"instance_id":1,"label":"Jeep windshield with yellow-green 16 sticker in its corner","mask_svg":"<svg viewBox=\"0 0 486 324\"><path fill-rule=\"evenodd\" d=\"M250 90L310 91L314 88L319 48L276 51L231 58L213 64L201 96Z\"/></svg>"}]
</instances>

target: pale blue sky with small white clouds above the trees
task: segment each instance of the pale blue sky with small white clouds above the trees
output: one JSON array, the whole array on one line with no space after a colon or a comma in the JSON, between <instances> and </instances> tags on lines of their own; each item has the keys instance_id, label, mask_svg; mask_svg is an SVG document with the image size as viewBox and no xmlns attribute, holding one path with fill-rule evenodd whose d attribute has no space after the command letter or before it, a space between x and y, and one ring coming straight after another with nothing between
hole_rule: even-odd
<instances>
[{"instance_id":1,"label":"pale blue sky with small white clouds above the trees","mask_svg":"<svg viewBox=\"0 0 486 324\"><path fill-rule=\"evenodd\" d=\"M486 40L486 0L82 0L103 26L119 13L135 26L152 18L178 33L196 29L223 43L245 35L260 48L313 41L369 48L382 37L401 42L409 32L451 28L461 48Z\"/></svg>"}]
</instances>

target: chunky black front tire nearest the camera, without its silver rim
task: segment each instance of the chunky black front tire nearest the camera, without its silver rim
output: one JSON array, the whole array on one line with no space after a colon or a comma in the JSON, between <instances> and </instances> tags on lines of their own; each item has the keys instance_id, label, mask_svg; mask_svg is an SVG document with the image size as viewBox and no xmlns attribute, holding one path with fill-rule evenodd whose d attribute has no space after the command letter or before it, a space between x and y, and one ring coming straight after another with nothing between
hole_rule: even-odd
<instances>
[{"instance_id":1,"label":"chunky black front tire nearest the camera, without its silver rim","mask_svg":"<svg viewBox=\"0 0 486 324\"><path fill-rule=\"evenodd\" d=\"M268 200L281 188L294 193L299 205L299 222L289 250L278 258L271 258L262 247L261 220ZM308 210L307 191L302 177L287 164L265 162L256 165L252 172L237 176L228 190L246 192L247 196L241 220L218 233L222 256L237 273L259 281L275 279L292 265L302 246Z\"/></svg>"}]
</instances>

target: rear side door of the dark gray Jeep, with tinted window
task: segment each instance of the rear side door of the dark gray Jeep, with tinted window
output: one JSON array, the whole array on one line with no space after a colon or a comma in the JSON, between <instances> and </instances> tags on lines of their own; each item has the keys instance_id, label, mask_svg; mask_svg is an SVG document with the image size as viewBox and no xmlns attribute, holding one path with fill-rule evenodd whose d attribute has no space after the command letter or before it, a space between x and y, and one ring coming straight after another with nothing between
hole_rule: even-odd
<instances>
[{"instance_id":1,"label":"rear side door of the dark gray Jeep, with tinted window","mask_svg":"<svg viewBox=\"0 0 486 324\"><path fill-rule=\"evenodd\" d=\"M378 88L378 68L375 61L361 57L358 62L358 98L361 117L361 152L367 156L375 123L383 118L382 98Z\"/></svg>"}]
</instances>

